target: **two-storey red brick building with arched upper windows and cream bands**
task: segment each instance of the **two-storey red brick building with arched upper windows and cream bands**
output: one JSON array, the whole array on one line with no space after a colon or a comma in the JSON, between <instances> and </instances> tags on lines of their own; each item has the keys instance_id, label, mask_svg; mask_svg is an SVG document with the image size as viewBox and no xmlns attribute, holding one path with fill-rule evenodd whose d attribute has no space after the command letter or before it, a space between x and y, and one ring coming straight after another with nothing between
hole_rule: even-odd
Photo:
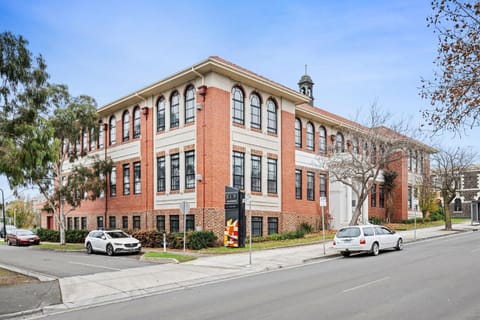
<instances>
[{"instance_id":1,"label":"two-storey red brick building with arched upper windows and cream bands","mask_svg":"<svg viewBox=\"0 0 480 320\"><path fill-rule=\"evenodd\" d=\"M302 222L318 227L320 196L331 226L348 223L351 190L330 184L314 160L328 157L330 137L351 121L313 107L312 89L308 75L296 91L210 57L103 106L101 134L85 134L82 148L111 157L114 171L105 194L70 212L67 227L173 232L186 223L222 234L225 186L251 194L254 234L291 231ZM395 164L395 220L412 214L420 168L429 170L433 151L417 145ZM385 216L381 197L368 201L368 215ZM191 208L186 219L183 201ZM44 214L42 227L55 228L53 217Z\"/></svg>"}]
</instances>

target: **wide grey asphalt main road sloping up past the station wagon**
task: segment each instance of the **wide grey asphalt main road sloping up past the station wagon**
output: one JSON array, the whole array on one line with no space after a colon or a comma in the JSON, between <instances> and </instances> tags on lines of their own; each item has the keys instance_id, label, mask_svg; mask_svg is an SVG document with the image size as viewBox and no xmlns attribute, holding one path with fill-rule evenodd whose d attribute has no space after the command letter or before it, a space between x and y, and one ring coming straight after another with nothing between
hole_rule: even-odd
<instances>
[{"instance_id":1,"label":"wide grey asphalt main road sloping up past the station wagon","mask_svg":"<svg viewBox=\"0 0 480 320\"><path fill-rule=\"evenodd\" d=\"M480 232L43 319L479 319Z\"/></svg>"}]
</instances>

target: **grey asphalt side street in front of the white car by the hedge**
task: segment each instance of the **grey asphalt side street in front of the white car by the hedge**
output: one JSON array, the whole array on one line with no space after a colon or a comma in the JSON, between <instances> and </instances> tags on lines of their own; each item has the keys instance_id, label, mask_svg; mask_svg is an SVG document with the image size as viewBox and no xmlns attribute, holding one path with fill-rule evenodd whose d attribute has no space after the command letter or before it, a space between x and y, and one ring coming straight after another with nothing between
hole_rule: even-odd
<instances>
[{"instance_id":1,"label":"grey asphalt side street in front of the white car by the hedge","mask_svg":"<svg viewBox=\"0 0 480 320\"><path fill-rule=\"evenodd\" d=\"M0 245L0 266L8 265L51 278L111 272L125 268L145 266L139 255L109 257L103 254L87 255L85 252L56 252L34 246L17 247Z\"/></svg>"}]
</instances>

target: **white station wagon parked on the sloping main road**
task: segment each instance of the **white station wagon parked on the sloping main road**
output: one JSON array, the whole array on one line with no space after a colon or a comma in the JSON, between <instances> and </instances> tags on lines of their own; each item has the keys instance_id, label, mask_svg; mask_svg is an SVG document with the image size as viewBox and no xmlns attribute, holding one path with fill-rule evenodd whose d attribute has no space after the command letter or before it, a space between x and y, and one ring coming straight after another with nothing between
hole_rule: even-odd
<instances>
[{"instance_id":1,"label":"white station wagon parked on the sloping main road","mask_svg":"<svg viewBox=\"0 0 480 320\"><path fill-rule=\"evenodd\" d=\"M376 256L383 249L402 250L403 239L395 231L383 226L349 226L337 231L333 247L344 257L350 256L352 252L368 252Z\"/></svg>"}]
</instances>

